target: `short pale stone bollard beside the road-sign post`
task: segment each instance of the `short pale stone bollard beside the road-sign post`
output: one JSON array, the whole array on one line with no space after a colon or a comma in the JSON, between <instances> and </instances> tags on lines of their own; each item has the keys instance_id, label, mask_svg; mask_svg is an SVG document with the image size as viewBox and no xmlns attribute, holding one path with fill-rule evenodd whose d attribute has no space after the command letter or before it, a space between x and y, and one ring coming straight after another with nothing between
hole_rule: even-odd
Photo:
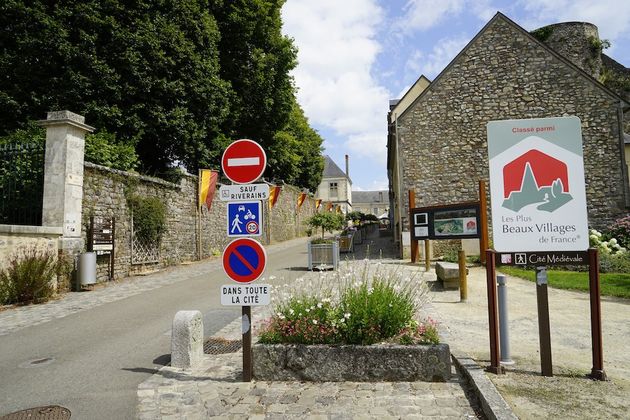
<instances>
[{"instance_id":1,"label":"short pale stone bollard beside the road-sign post","mask_svg":"<svg viewBox=\"0 0 630 420\"><path fill-rule=\"evenodd\" d=\"M203 319L199 311L179 311L171 331L171 366L195 367L203 357Z\"/></svg>"}]
</instances>

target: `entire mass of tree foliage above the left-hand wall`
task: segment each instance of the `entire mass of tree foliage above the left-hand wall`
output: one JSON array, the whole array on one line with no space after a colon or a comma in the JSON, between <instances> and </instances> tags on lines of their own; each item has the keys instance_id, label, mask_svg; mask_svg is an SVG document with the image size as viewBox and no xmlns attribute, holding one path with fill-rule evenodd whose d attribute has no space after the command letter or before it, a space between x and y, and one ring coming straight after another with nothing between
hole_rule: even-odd
<instances>
[{"instance_id":1,"label":"entire mass of tree foliage above the left-hand wall","mask_svg":"<svg viewBox=\"0 0 630 420\"><path fill-rule=\"evenodd\" d=\"M69 109L158 176L216 168L229 142L251 138L267 150L266 177L314 190L321 138L295 101L283 3L6 0L0 136Z\"/></svg>"}]
</instances>

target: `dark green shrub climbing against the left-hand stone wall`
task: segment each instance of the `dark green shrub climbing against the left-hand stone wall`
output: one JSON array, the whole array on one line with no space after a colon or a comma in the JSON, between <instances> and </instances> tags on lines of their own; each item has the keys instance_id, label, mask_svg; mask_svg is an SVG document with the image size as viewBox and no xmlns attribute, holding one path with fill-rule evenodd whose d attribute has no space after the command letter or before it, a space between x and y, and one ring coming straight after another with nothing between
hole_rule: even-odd
<instances>
[{"instance_id":1,"label":"dark green shrub climbing against the left-hand stone wall","mask_svg":"<svg viewBox=\"0 0 630 420\"><path fill-rule=\"evenodd\" d=\"M133 211L133 229L144 242L159 243L166 231L166 206L157 197L132 195L127 201Z\"/></svg>"}]
</instances>

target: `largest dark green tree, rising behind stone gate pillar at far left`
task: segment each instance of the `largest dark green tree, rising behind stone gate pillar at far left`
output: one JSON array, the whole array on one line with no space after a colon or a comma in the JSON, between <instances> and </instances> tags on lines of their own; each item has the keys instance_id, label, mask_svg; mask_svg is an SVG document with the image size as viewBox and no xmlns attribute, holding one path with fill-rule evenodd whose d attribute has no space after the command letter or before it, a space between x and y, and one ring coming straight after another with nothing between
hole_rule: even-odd
<instances>
[{"instance_id":1,"label":"largest dark green tree, rising behind stone gate pillar at far left","mask_svg":"<svg viewBox=\"0 0 630 420\"><path fill-rule=\"evenodd\" d=\"M0 27L0 135L70 109L147 172L218 162L230 91L208 1L7 0Z\"/></svg>"}]
</instances>

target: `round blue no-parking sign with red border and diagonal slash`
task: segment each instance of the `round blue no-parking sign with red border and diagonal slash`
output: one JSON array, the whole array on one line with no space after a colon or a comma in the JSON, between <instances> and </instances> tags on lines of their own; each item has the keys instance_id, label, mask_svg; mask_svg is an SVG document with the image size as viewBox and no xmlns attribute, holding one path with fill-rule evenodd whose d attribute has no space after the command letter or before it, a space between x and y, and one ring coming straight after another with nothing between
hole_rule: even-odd
<instances>
[{"instance_id":1,"label":"round blue no-parking sign with red border and diagonal slash","mask_svg":"<svg viewBox=\"0 0 630 420\"><path fill-rule=\"evenodd\" d=\"M223 251L223 270L239 283L251 283L259 278L266 263L265 248L253 239L235 239Z\"/></svg>"}]
</instances>

